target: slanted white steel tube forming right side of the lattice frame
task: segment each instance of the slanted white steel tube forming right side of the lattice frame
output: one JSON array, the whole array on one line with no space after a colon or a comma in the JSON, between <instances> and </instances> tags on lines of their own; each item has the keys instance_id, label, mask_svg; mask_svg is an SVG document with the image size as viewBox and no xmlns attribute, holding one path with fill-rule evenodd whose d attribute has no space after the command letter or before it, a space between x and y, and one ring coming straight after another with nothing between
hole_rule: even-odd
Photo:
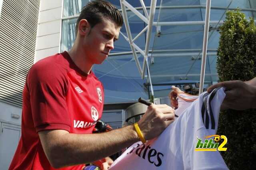
<instances>
[{"instance_id":1,"label":"slanted white steel tube forming right side of the lattice frame","mask_svg":"<svg viewBox=\"0 0 256 170\"><path fill-rule=\"evenodd\" d=\"M153 22L154 22L155 11L156 11L156 0L151 0L149 21L148 21L148 32L147 32L146 46L145 46L145 55L144 55L144 61L143 61L143 66L142 66L142 79L144 79L144 77L145 77L145 70L146 70L146 59L145 58L148 57L148 49L149 49L151 32L152 32L152 26L153 26Z\"/></svg>"}]
</instances>

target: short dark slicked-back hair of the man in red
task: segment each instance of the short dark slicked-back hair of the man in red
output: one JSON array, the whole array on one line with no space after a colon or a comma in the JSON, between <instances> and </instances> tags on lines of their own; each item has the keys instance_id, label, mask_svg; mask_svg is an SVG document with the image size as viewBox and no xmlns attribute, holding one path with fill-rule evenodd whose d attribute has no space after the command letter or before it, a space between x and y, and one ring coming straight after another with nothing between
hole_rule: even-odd
<instances>
[{"instance_id":1,"label":"short dark slicked-back hair of the man in red","mask_svg":"<svg viewBox=\"0 0 256 170\"><path fill-rule=\"evenodd\" d=\"M82 8L82 11L76 21L76 35L80 20L86 19L91 28L93 28L96 24L102 22L103 18L112 20L117 26L121 27L123 25L122 15L110 2L104 0L88 2L88 4Z\"/></svg>"}]
</instances>

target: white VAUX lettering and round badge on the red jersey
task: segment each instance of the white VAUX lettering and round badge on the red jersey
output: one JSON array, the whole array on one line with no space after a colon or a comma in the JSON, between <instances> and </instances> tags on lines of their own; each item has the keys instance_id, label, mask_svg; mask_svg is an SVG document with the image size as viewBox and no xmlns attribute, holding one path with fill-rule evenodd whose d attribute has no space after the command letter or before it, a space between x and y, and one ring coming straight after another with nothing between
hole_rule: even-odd
<instances>
[{"instance_id":1,"label":"white VAUX lettering and round badge on the red jersey","mask_svg":"<svg viewBox=\"0 0 256 170\"><path fill-rule=\"evenodd\" d=\"M88 127L92 127L97 123L99 114L97 109L93 106L91 108L91 117L94 120L94 122L84 122L84 121L74 120L74 128L88 128Z\"/></svg>"}]
</instances>

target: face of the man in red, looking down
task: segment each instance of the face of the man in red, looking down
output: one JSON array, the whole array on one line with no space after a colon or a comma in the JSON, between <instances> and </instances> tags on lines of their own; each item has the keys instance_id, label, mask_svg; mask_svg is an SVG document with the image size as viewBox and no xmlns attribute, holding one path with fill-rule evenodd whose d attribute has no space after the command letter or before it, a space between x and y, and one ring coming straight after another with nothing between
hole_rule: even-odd
<instances>
[{"instance_id":1,"label":"face of the man in red, looking down","mask_svg":"<svg viewBox=\"0 0 256 170\"><path fill-rule=\"evenodd\" d=\"M101 64L114 49L114 42L118 40L120 27L111 20L102 22L90 28L90 33L84 37L83 47L86 57L92 64Z\"/></svg>"}]
</instances>

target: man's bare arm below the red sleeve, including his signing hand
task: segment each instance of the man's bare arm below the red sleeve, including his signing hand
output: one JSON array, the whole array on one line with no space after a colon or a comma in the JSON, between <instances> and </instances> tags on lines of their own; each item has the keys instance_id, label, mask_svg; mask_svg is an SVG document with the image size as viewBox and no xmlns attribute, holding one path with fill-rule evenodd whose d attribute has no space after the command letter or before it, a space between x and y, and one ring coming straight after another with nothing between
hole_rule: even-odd
<instances>
[{"instance_id":1,"label":"man's bare arm below the red sleeve, including his signing hand","mask_svg":"<svg viewBox=\"0 0 256 170\"><path fill-rule=\"evenodd\" d=\"M175 120L168 105L150 105L138 121L146 140L159 136ZM94 162L139 141L133 125L100 134L71 134L66 130L42 130L40 142L54 168Z\"/></svg>"}]
</instances>

